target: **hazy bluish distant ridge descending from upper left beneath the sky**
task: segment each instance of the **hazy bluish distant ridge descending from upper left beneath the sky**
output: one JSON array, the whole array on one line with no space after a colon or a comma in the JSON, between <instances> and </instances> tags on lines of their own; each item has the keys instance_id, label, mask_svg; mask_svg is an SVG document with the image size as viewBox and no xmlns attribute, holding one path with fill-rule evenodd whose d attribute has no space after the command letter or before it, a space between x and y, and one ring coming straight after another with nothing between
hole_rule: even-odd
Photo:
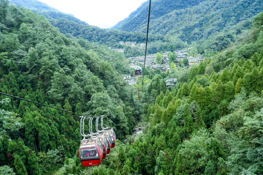
<instances>
[{"instance_id":1,"label":"hazy bluish distant ridge descending from upper left beneath the sky","mask_svg":"<svg viewBox=\"0 0 263 175\"><path fill-rule=\"evenodd\" d=\"M77 38L82 37L90 42L106 44L111 47L117 47L119 41L145 42L145 35L142 33L120 32L117 30L109 31L91 26L71 14L59 12L38 0L10 0L10 4L33 10L38 15L44 15L52 25L57 27L59 31L65 35L70 34Z\"/></svg>"}]
</instances>

